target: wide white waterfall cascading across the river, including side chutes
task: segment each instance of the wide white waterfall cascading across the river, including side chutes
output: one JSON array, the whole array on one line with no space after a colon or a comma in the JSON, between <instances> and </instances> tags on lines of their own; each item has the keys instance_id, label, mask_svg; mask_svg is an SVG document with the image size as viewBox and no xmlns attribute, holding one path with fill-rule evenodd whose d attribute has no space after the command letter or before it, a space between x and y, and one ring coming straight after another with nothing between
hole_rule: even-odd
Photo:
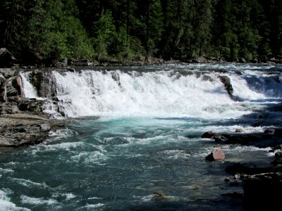
<instances>
[{"instance_id":1,"label":"wide white waterfall cascading across the river, including side chutes","mask_svg":"<svg viewBox=\"0 0 282 211\"><path fill-rule=\"evenodd\" d=\"M281 91L275 91L281 87L279 78L246 72L52 70L45 74L49 86L43 87L56 90L44 89L41 95L49 100L44 106L46 112L66 117L237 117L250 112L242 102L281 96ZM25 94L35 97L27 75L21 75ZM228 95L219 75L231 79L234 98Z\"/></svg>"}]
</instances>

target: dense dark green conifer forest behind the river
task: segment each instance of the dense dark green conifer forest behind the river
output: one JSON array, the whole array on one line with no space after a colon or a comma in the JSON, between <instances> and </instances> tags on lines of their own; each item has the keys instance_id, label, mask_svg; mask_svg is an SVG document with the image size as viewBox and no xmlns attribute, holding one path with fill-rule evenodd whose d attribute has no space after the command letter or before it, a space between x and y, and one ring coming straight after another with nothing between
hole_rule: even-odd
<instances>
[{"instance_id":1,"label":"dense dark green conifer forest behind the river","mask_svg":"<svg viewBox=\"0 0 282 211\"><path fill-rule=\"evenodd\" d=\"M0 47L17 58L282 55L281 0L1 0Z\"/></svg>"}]
</instances>

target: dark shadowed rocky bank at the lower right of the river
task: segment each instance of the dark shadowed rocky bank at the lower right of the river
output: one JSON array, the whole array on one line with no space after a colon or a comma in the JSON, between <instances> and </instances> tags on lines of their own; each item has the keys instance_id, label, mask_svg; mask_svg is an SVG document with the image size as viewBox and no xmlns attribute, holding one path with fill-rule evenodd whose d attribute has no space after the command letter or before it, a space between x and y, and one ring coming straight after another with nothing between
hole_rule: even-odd
<instances>
[{"instance_id":1,"label":"dark shadowed rocky bank at the lower right of the river","mask_svg":"<svg viewBox=\"0 0 282 211\"><path fill-rule=\"evenodd\" d=\"M252 164L234 163L226 167L226 172L233 175L233 179L226 179L226 182L240 184L243 182L243 203L245 210L271 210L280 206L282 188L282 129L266 129L263 133L240 133L215 134L205 132L202 138L214 139L216 143L240 144L257 146L259 148L271 148L274 158L265 167L255 167ZM220 150L220 155L224 153ZM214 153L214 152L213 152ZM206 160L214 161L219 155L207 155ZM213 157L212 157L213 156ZM211 159L212 157L212 159ZM230 196L237 198L240 193L232 193Z\"/></svg>"}]
</instances>

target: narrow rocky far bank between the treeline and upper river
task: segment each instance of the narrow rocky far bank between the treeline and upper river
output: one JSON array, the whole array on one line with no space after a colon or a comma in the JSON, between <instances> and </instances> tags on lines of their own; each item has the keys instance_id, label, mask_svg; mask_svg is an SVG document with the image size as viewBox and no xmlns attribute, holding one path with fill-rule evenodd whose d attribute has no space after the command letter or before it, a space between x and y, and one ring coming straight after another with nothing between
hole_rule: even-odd
<instances>
[{"instance_id":1,"label":"narrow rocky far bank between the treeline and upper river","mask_svg":"<svg viewBox=\"0 0 282 211\"><path fill-rule=\"evenodd\" d=\"M17 60L8 49L0 49L0 68L34 68L34 67L55 67L66 68L71 66L104 66L104 65L162 65L166 63L272 63L281 64L282 57L269 58L267 56L257 56L252 60L246 60L245 58L237 58L235 60L226 60L225 58L212 57L212 56L194 56L186 60L164 60L162 58L147 58L145 56L138 56L132 60L123 59L118 60L116 58L83 58L83 59L68 59L61 58L56 60L43 61L37 58L38 55L33 55L33 60ZM39 62L40 61L40 62Z\"/></svg>"}]
</instances>

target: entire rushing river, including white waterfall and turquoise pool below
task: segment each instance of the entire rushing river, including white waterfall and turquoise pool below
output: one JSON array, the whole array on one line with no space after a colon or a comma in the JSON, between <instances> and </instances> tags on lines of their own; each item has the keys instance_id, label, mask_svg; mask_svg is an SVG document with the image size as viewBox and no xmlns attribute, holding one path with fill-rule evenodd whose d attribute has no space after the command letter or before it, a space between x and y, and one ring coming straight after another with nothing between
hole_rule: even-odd
<instances>
[{"instance_id":1,"label":"entire rushing river, including white waterfall and turquoise pool below","mask_svg":"<svg viewBox=\"0 0 282 211\"><path fill-rule=\"evenodd\" d=\"M281 101L281 71L233 64L52 70L41 96L23 72L26 97L47 98L45 112L74 118L42 144L0 149L0 210L243 210L242 200L223 195L243 193L224 181L232 178L224 169L265 165L269 148L223 145L226 160L207 162L216 144L200 136L281 124L267 111ZM219 75L231 79L232 98ZM271 121L253 127L263 121L259 113Z\"/></svg>"}]
</instances>

